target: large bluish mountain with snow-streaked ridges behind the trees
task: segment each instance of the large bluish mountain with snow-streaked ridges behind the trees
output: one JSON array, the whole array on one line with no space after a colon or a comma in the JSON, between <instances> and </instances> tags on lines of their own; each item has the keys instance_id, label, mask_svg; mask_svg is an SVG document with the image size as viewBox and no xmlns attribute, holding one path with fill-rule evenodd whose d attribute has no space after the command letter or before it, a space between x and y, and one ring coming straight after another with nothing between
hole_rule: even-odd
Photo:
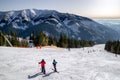
<instances>
[{"instance_id":1,"label":"large bluish mountain with snow-streaked ridges behind the trees","mask_svg":"<svg viewBox=\"0 0 120 80\"><path fill-rule=\"evenodd\" d=\"M28 37L34 31L44 31L48 36L59 38L61 33L69 38L91 40L104 43L118 40L118 33L92 19L55 10L25 9L0 12L0 30L15 32L20 37Z\"/></svg>"}]
</instances>

